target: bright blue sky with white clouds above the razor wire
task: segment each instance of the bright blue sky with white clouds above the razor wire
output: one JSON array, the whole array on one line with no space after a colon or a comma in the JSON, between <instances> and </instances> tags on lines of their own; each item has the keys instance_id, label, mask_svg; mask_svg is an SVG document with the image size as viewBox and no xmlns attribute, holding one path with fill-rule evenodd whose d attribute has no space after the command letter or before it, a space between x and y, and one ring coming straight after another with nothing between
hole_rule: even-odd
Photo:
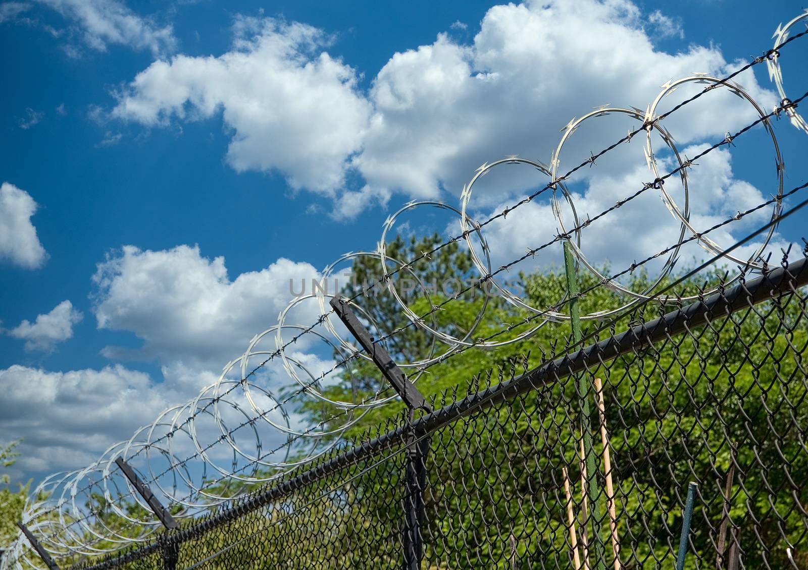
<instances>
[{"instance_id":1,"label":"bright blue sky with white clouds above the razor wire","mask_svg":"<svg viewBox=\"0 0 808 570\"><path fill-rule=\"evenodd\" d=\"M474 168L507 154L547 162L572 115L603 103L644 108L667 78L731 70L802 11L798 2L547 5L0 4L0 183L36 203L30 224L47 252L0 258L0 388L12 394L0 404L0 440L26 438L15 475L82 465L193 396L226 354L274 323L288 278L374 248L385 217L408 200L457 205ZM797 61L805 48L783 56L794 97L808 89ZM739 81L767 111L776 103L765 65ZM683 147L754 119L743 102L717 101L671 126ZM595 128L566 165L628 126ZM776 135L788 190L806 178L806 133L780 121ZM748 140L694 174L705 185L697 195L726 186L698 203L705 224L774 191L770 142L762 132ZM646 168L635 157L576 182L587 213L599 207L588 192L625 188ZM482 188L474 212L512 203L537 183L526 180ZM632 232L654 225L644 216L634 213ZM774 241L799 241L805 221L793 216ZM520 223L536 225L494 228L503 258L531 244L512 234ZM412 224L442 231L448 219ZM593 258L630 262L644 251L637 241ZM42 327L20 328L59 306Z\"/></svg>"}]
</instances>

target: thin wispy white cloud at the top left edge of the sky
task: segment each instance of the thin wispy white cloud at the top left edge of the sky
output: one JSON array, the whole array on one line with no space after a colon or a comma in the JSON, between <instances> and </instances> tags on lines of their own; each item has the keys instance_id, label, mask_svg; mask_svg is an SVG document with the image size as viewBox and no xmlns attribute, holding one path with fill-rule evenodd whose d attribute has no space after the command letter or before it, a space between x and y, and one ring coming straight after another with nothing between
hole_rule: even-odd
<instances>
[{"instance_id":1,"label":"thin wispy white cloud at the top left edge of the sky","mask_svg":"<svg viewBox=\"0 0 808 570\"><path fill-rule=\"evenodd\" d=\"M105 51L109 44L148 49L155 57L173 52L177 40L172 27L158 26L152 19L135 14L116 0L39 0L73 23L90 48ZM75 48L69 52L78 55Z\"/></svg>"}]
</instances>

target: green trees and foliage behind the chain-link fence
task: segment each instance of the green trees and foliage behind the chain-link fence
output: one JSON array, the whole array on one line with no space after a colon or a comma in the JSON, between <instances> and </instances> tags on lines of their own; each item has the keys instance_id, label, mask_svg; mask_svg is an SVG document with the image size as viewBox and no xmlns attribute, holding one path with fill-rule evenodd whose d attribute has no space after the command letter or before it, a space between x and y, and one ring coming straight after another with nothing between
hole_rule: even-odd
<instances>
[{"instance_id":1,"label":"green trees and foliage behind the chain-link fence","mask_svg":"<svg viewBox=\"0 0 808 570\"><path fill-rule=\"evenodd\" d=\"M389 244L389 256L415 258L439 242L437 236L422 241L398 237ZM422 258L412 270L423 283L473 275L469 254L457 243ZM377 279L379 273L377 261L357 259L353 274L360 284L349 284L343 294L355 295L361 283ZM588 291L580 300L583 313L625 303L624 296L597 287L595 276L583 270L579 280L582 290ZM718 275L710 278L718 280ZM662 286L667 283L670 280ZM625 284L642 291L650 281L638 271ZM564 298L566 280L562 271L545 270L518 275L509 286L520 287L533 307L547 308ZM697 291L700 286L696 279L689 279L679 291ZM417 289L405 295L407 306L416 314L432 313L432 326L463 337L486 299L479 291L469 292L446 303L443 310L434 310L447 300L440 287L431 290L428 298ZM431 337L407 326L410 319L389 290L358 298L357 304L356 312L377 337L407 327L386 343L399 363L431 353ZM585 325L589 330L608 325L596 336L605 338L670 310L670 306L646 304L617 319L585 321ZM491 297L470 337L490 337L504 326L511 330L498 338L516 337L534 325L522 321L528 314L499 296ZM808 540L804 530L808 509L806 321L803 290L731 316L718 314L708 325L607 360L581 376L590 382L598 377L604 383L622 568L673 567L681 501L692 479L700 480L702 487L688 568L696 568L696 560L698 568L715 567L725 509L732 520L725 538L738 537L744 568L788 567L786 543L795 547L801 568L808 563L801 554ZM417 376L421 392L435 398L436 406L443 406L486 383L498 383L566 354L569 347L570 325L548 322L521 342L493 350L458 350L429 367L428 373L407 371ZM437 343L434 350L441 354L446 346ZM335 399L356 400L373 396L383 386L372 363L355 361L351 371L352 375L343 372L342 383L322 391ZM423 568L573 568L563 474L566 469L574 513L580 515L578 379L561 376L557 382L469 414L432 434L424 496L427 564ZM400 423L402 411L403 405L395 401L373 409L343 438L348 445L363 442L374 430L383 432ZM295 412L308 414L311 421L327 417L322 405L310 402ZM597 425L600 418L589 419ZM600 464L602 448L596 428L593 436ZM351 464L184 544L180 564L195 564L223 549L204 568L400 564L406 456L379 459ZM730 480L732 465L736 468ZM298 472L310 467L304 465ZM603 488L602 473L600 480ZM729 501L721 491L727 483L731 483ZM222 485L221 492L234 494L253 487ZM108 525L116 526L111 513L104 517ZM196 522L185 521L183 526ZM583 539L583 525L576 526ZM608 525L604 522L599 530L610 553ZM592 544L596 537L591 527L587 533ZM593 562L590 556L590 568ZM137 568L161 568L160 564L158 558L149 558ZM607 566L612 568L611 560Z\"/></svg>"}]
</instances>

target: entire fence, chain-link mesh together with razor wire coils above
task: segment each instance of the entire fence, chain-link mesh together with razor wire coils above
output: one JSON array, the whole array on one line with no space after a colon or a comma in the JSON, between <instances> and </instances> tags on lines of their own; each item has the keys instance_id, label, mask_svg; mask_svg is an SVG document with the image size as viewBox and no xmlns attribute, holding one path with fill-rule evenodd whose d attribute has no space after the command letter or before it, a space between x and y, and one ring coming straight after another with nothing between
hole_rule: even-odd
<instances>
[{"instance_id":1,"label":"entire fence, chain-link mesh together with razor wire coils above","mask_svg":"<svg viewBox=\"0 0 808 570\"><path fill-rule=\"evenodd\" d=\"M497 352L492 361L496 367L482 384L477 379L465 387L456 387L451 395L433 401L431 409L437 409L427 416L388 421L383 424L385 430L378 429L377 437L343 438L365 413L395 398L390 387L384 385L374 386L360 397L354 386L352 398L347 401L328 400L321 393L326 375L348 363L351 363L349 371L351 367L361 367L368 355L361 354L351 342L343 341L333 326L328 326L331 312L323 308L325 295L305 295L293 300L281 312L278 325L257 335L242 358L230 362L219 382L204 388L195 400L166 410L151 427L141 428L128 442L110 447L102 459L86 469L56 476L47 485L40 485L23 519L34 522L35 534L46 550L57 555L63 568L73 565L75 568L351 566L619 570L675 566L678 570L713 565L801 568L808 564L804 536L808 529L806 491L802 484L806 477L806 418L800 412L806 386L802 354L808 337L806 295L796 288L806 283L808 274L802 270L804 259L787 264L788 252L784 252L781 270L772 271L768 259L761 257L776 223L806 205L803 202L781 215L783 199L801 191L806 184L784 194L785 166L770 122L785 113L797 127L804 127L796 108L808 93L793 101L785 98L778 63L781 48L808 34L803 31L788 37L789 27L804 18L801 15L785 28L778 27L775 48L727 78L709 78L698 73L667 82L663 93L645 113L633 107L598 107L578 121L571 120L562 129L565 134L550 167L519 157L484 164L464 188L461 210L440 203L407 204L398 213L422 205L450 209L461 216L463 229L457 237L427 248L427 252L410 258L410 262L394 262L393 270L387 266L387 262L394 260L388 258L384 236L397 213L385 222L377 252L347 254L326 268L327 276L337 263L347 258L375 256L381 261L384 275L372 286L389 285L393 275L411 272L414 263L428 260L432 253L451 249L457 241L465 240L470 262L478 266L482 276L443 301L432 303L427 298L430 308L427 312L411 311L396 295L408 321L392 330L377 327L381 336L372 342L395 341L394 337L400 337L403 331L416 329L439 337L449 346L443 354L436 356L430 352L427 358L399 363L417 369L417 375L431 374L433 370L440 374L448 358L457 358L471 347L490 350L510 345L510 352ZM730 82L730 78L763 61L770 71L774 70L782 95L781 103L768 113L743 87ZM657 115L655 107L659 100L684 82L709 86L671 111ZM672 136L660 126L660 121L717 87L747 98L760 118L734 135L727 132L724 140L693 158L685 156L682 161ZM567 136L584 119L611 112L625 113L641 120L642 125L600 153L591 153L589 159L567 174L558 176L558 154ZM735 139L759 124L771 135L776 152L776 195L746 212L739 211L730 220L698 231L688 218L688 170L697 166L694 160L733 145ZM587 214L586 220L578 219L568 200L574 225L566 228L561 223L556 190L560 188L569 198L563 186L571 174L583 166L594 165L595 159L629 142L643 130L647 133L646 161L654 181L646 182L642 189L596 216ZM679 163L678 168L663 175L650 145L650 135L657 130ZM536 167L551 182L482 223L470 218L466 205L473 182L494 166L516 163ZM663 182L673 180L675 174L684 186L684 212L680 212L663 187ZM481 228L500 217L504 219L516 207L549 190L553 191L553 208L558 212L561 232L553 240L528 248L520 258L494 270ZM671 214L682 222L679 241L639 263L635 260L627 269L608 278L583 258L574 237L581 229L650 190L660 191ZM730 249L719 248L707 236L713 229L769 205L774 206L772 222ZM685 228L692 233L691 237L684 237ZM768 229L768 235L748 261L729 255L764 229ZM485 260L475 253L472 238L480 240ZM657 286L664 285L663 282L679 283L671 283L674 277L668 271L674 266L679 248L690 241L702 245L710 254L716 253L711 262L722 258L722 262L737 262L741 267L739 274L729 281L725 276L725 281L719 279L718 285L713 281L711 287L705 284L701 290L688 291L684 299L678 298L677 304L675 293L662 297L664 291ZM499 286L494 281L495 276L501 276L511 266L557 243L569 246L576 262L587 266L597 278L583 293L572 294L569 288L561 301L540 309L525 304L505 285ZM672 252L671 257L659 279L650 285L646 283L645 293L630 291L617 283L617 277L631 274L667 252ZM571 264L570 258L569 267ZM762 276L751 280L754 286L747 288L744 279L751 279L751 271ZM492 283L511 304L530 313L511 315L524 322L502 323L489 337L479 336L482 330L477 327L486 309L483 305L477 320L463 331L465 336L455 337L427 326L427 317L436 319L444 306L463 302L458 301L461 295ZM578 320L571 308L579 303L580 295L603 286L629 294L632 300L608 305L611 310L590 307L595 312L585 312L582 319L598 324L584 331L583 338L595 344L579 350L580 333L570 335L567 329L568 322L573 321L574 330ZM395 295L394 288L391 291ZM366 293L363 287L348 302ZM317 324L284 325L288 310L315 297L322 308ZM555 312L566 304L570 304L569 314ZM659 316L670 311L671 306L684 304L687 306L678 312ZM365 316L372 321L369 315ZM606 324L605 317L608 317ZM501 335L532 321L537 324L527 332L501 339ZM339 344L322 337L315 330L320 325L328 326ZM555 334L549 349L533 337L542 326ZM626 327L625 333L618 333ZM294 336L284 340L284 329ZM268 333L275 333L267 336L276 337L275 350L256 348ZM324 369L320 375L312 374L284 353L284 348L305 334L322 337L335 349L335 354L340 351L344 354L339 354L333 367ZM431 346L434 349L434 337ZM528 349L534 350L532 357ZM298 386L278 396L264 390L258 397L271 400L270 404L256 404L250 389L259 392L261 388L254 380L257 381L259 372L264 372L264 365L279 355L284 369ZM511 357L507 363L506 356ZM255 362L250 363L250 358ZM238 379L227 377L231 369L238 369L238 364L241 364ZM517 375L519 369L525 373ZM301 371L307 378L298 376ZM244 389L251 411L239 407L233 400L236 394L229 396L238 388ZM316 422L305 430L292 426L289 418L300 409L288 413L284 404L297 396L315 396L339 411L330 415L312 414ZM234 423L225 425L220 404L221 409L226 411L230 406L241 415L237 414ZM354 409L358 410L356 414ZM273 413L275 419L270 417ZM204 426L205 421L217 427L221 436L198 438L196 425ZM262 421L285 434L280 445L264 445L256 429L256 425L263 425ZM242 431L236 434L238 430ZM250 430L255 434L252 450L242 444L242 438L250 437ZM180 459L172 451L172 442L186 435L194 449L191 455ZM309 444L305 438L309 438ZM225 463L219 465L212 456L223 445L230 446L233 459L231 462L229 456L225 457ZM149 451L157 457L155 465L162 462L167 467L153 470ZM146 483L153 484L168 499L168 509L176 508L178 518L184 518L177 532L159 532L158 521L133 488L117 486L116 473L110 469L113 460L119 456L136 459L141 452L148 464L148 475L143 473ZM278 459L278 454L284 457ZM201 482L196 483L191 480L191 463L212 467L216 476L221 477L210 478L204 467L193 472L200 476ZM172 477L173 487L163 488L161 481ZM696 505L693 520L686 515L688 520L683 521L684 495L691 481L698 488ZM257 488L267 482L268 486ZM251 492L245 495L245 491ZM240 498L231 498L236 496ZM682 532L690 526L692 530ZM90 558L131 543L137 543L137 547L129 547L101 563ZM684 550L680 547L677 551L680 544ZM11 550L13 556L2 561L3 568L41 567L20 539L11 545ZM684 556L688 556L687 560ZM12 559L14 562L7 562Z\"/></svg>"}]
</instances>

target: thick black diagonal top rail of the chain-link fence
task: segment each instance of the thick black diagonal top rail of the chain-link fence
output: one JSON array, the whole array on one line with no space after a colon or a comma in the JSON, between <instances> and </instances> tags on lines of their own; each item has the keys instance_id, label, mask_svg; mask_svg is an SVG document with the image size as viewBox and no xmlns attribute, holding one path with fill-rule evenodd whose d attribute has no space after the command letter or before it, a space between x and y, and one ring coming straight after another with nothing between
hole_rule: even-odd
<instances>
[{"instance_id":1,"label":"thick black diagonal top rail of the chain-link fence","mask_svg":"<svg viewBox=\"0 0 808 570\"><path fill-rule=\"evenodd\" d=\"M522 375L469 394L443 408L425 413L421 417L398 425L395 429L377 438L353 446L316 467L310 467L297 476L279 484L273 484L268 488L259 489L250 496L238 500L238 504L213 517L181 530L163 533L153 543L120 555L111 555L107 560L97 564L75 564L71 570L117 568L121 564L140 560L170 545L187 542L222 524L266 506L272 501L288 496L314 481L333 475L344 467L368 459L393 446L406 446L408 438L410 442L415 442L420 436L457 421L474 409L482 409L513 396L530 392L630 351L642 350L664 337L675 336L686 329L705 325L712 319L730 316L734 312L750 308L765 300L789 295L806 284L808 284L808 257L803 257L795 262L773 268L755 279L741 281L724 291L716 291L702 300L676 308L651 321L631 326L622 333L612 335L600 342L592 343L570 354L564 354Z\"/></svg>"}]
</instances>

